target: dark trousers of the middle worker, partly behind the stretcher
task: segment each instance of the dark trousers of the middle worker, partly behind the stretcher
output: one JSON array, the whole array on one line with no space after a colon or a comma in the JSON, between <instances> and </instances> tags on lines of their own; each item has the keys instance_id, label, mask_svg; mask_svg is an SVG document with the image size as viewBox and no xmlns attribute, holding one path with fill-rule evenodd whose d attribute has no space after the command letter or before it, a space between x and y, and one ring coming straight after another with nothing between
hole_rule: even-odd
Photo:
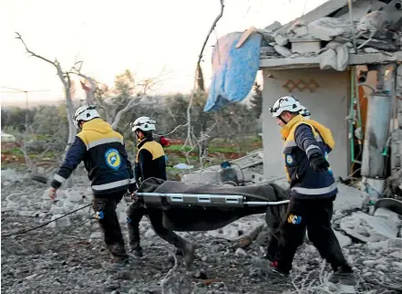
<instances>
[{"instance_id":1,"label":"dark trousers of the middle worker, partly behind the stretcher","mask_svg":"<svg viewBox=\"0 0 402 294\"><path fill-rule=\"evenodd\" d=\"M185 250L186 241L163 226L162 210L155 208L146 209L139 201L129 205L129 209L127 210L127 226L129 228L129 245L131 248L139 247L139 221L143 215L149 216L150 224L158 236L175 247L180 248L181 251Z\"/></svg>"}]
</instances>

